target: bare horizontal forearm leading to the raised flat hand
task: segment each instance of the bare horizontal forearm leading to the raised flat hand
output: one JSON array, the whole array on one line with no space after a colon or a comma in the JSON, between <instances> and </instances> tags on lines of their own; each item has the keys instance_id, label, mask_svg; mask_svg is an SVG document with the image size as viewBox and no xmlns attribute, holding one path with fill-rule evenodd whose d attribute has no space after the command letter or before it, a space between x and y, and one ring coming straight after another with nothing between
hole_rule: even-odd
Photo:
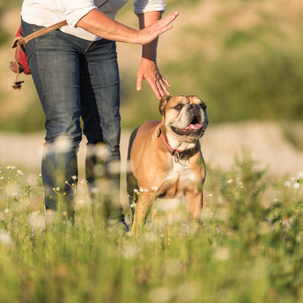
<instances>
[{"instance_id":1,"label":"bare horizontal forearm leading to the raised flat hand","mask_svg":"<svg viewBox=\"0 0 303 303\"><path fill-rule=\"evenodd\" d=\"M98 10L91 10L78 21L76 26L105 39L140 43L138 30L123 25Z\"/></svg>"}]
</instances>

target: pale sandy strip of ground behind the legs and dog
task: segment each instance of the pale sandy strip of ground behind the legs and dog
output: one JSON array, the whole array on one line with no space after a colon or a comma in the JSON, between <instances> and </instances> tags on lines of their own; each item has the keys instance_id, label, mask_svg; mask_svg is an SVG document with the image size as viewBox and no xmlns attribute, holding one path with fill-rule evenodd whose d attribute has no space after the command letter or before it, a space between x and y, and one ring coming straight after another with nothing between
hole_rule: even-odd
<instances>
[{"instance_id":1,"label":"pale sandy strip of ground behind the legs and dog","mask_svg":"<svg viewBox=\"0 0 303 303\"><path fill-rule=\"evenodd\" d=\"M125 169L130 131L122 130L122 171ZM44 133L12 134L0 132L0 167L15 165L31 172L39 172ZM85 158L85 139L79 150L80 173ZM303 171L303 151L297 150L283 136L281 127L273 122L243 122L210 125L201 139L203 155L208 167L231 169L234 159L249 151L261 168L269 167L273 177L296 175Z\"/></svg>"}]
</instances>

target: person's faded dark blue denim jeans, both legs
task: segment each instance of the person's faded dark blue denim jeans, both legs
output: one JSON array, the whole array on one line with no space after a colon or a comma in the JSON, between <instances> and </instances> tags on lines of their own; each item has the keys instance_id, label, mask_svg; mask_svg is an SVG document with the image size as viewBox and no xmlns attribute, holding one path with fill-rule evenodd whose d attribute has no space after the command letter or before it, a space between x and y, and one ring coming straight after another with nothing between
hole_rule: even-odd
<instances>
[{"instance_id":1,"label":"person's faded dark blue denim jeans, both legs","mask_svg":"<svg viewBox=\"0 0 303 303\"><path fill-rule=\"evenodd\" d=\"M23 35L41 26L22 20ZM86 157L86 178L93 185L94 166L120 161L120 82L116 43L107 39L88 41L60 30L52 31L26 44L28 64L46 117L42 180L46 209L57 209L53 188L66 193L72 208L72 176L78 176L77 151L83 133L91 150L103 142L106 159L96 153ZM89 148L88 148L89 149ZM116 173L117 174L117 173ZM120 175L120 172L119 172ZM113 179L118 179L115 176ZM117 181L117 182L118 182ZM119 186L118 186L119 188ZM116 189L117 190L117 189ZM119 201L115 218L123 220Z\"/></svg>"}]
</instances>

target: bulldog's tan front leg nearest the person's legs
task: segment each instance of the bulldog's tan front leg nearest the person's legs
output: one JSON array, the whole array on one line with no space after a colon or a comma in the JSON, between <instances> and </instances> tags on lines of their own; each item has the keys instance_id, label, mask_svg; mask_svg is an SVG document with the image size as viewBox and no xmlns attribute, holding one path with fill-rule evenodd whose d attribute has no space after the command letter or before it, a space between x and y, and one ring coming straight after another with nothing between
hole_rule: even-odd
<instances>
[{"instance_id":1,"label":"bulldog's tan front leg nearest the person's legs","mask_svg":"<svg viewBox=\"0 0 303 303\"><path fill-rule=\"evenodd\" d=\"M150 192L140 192L138 195L136 210L134 214L134 220L132 225L132 232L136 236L139 235L146 217L148 213L150 212L151 205L153 205L153 197L150 194Z\"/></svg>"}]
</instances>

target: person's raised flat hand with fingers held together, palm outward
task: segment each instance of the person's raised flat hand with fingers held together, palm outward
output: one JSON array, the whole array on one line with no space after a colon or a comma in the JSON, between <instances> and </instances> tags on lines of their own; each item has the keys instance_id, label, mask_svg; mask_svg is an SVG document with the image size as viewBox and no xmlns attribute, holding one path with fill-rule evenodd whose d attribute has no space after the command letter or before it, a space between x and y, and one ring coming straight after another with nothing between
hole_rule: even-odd
<instances>
[{"instance_id":1,"label":"person's raised flat hand with fingers held together, palm outward","mask_svg":"<svg viewBox=\"0 0 303 303\"><path fill-rule=\"evenodd\" d=\"M171 23L176 19L176 17L179 15L179 12L170 13L166 17L151 23L150 25L146 26L143 29L140 29L138 34L138 42L142 45L153 41L156 39L159 35L166 32L167 30L171 29L173 26Z\"/></svg>"}]
</instances>

